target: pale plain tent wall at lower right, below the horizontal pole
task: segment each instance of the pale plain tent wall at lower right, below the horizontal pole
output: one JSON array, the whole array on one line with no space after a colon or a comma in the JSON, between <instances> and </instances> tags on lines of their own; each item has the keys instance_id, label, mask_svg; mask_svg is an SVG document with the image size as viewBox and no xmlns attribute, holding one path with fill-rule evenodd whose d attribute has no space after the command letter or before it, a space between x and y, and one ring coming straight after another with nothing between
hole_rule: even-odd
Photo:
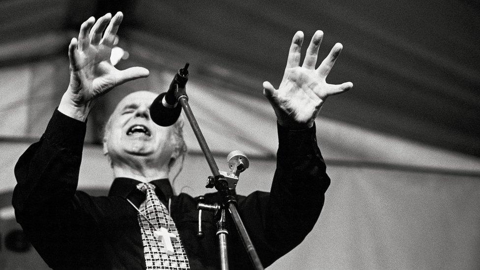
<instances>
[{"instance_id":1,"label":"pale plain tent wall at lower right, below the horizontal pole","mask_svg":"<svg viewBox=\"0 0 480 270\"><path fill-rule=\"evenodd\" d=\"M479 175L328 168L314 230L270 269L480 268Z\"/></svg>"}]
</instances>

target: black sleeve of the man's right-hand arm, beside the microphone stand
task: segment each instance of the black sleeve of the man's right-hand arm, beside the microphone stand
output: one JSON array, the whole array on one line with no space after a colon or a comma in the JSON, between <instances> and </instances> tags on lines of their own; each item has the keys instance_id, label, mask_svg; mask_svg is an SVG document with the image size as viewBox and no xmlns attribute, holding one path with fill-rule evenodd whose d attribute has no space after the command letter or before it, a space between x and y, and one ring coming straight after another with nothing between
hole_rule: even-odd
<instances>
[{"instance_id":1,"label":"black sleeve of the man's right-hand arm, beside the microphone stand","mask_svg":"<svg viewBox=\"0 0 480 270\"><path fill-rule=\"evenodd\" d=\"M264 267L313 229L330 185L315 125L305 130L278 125L278 141L270 193L257 191L239 199L240 214Z\"/></svg>"}]
</instances>

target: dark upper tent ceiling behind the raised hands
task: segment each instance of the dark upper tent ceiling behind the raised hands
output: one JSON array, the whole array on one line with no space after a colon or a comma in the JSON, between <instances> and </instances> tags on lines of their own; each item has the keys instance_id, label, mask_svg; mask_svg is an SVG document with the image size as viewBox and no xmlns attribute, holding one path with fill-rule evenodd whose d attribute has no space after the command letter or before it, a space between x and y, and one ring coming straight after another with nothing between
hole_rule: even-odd
<instances>
[{"instance_id":1,"label":"dark upper tent ceiling behind the raised hands","mask_svg":"<svg viewBox=\"0 0 480 270\"><path fill-rule=\"evenodd\" d=\"M264 80L280 83L295 31L303 30L308 42L320 29L321 58L335 42L344 45L329 82L354 83L350 92L330 98L324 116L480 156L476 1L3 0L0 8L1 65L66 54L68 31L90 15L121 10L124 42L157 55L165 49L158 40L181 44L188 48L182 54L164 51L178 58L166 65L197 60L193 71L216 72L254 97ZM34 38L53 34L65 40L53 39L51 48L38 51ZM21 51L12 47L17 43Z\"/></svg>"}]
</instances>

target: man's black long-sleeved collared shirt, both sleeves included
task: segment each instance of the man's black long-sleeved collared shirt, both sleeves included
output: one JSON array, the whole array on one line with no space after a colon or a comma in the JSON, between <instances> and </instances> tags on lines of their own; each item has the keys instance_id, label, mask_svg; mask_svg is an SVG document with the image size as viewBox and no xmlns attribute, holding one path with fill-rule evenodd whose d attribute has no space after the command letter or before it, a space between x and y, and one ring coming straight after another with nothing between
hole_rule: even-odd
<instances>
[{"instance_id":1,"label":"man's black long-sleeved collared shirt, both sleeves included","mask_svg":"<svg viewBox=\"0 0 480 270\"><path fill-rule=\"evenodd\" d=\"M55 111L40 141L20 157L13 206L32 245L54 269L145 269L137 211L145 195L137 180L114 180L108 196L77 191L86 124ZM264 267L297 246L315 225L330 179L315 138L315 127L291 131L278 127L277 168L270 193L237 196L238 209ZM152 181L180 233L191 269L219 269L212 213L202 214L197 237L197 200L173 195L167 179ZM217 202L217 193L205 195ZM232 221L228 256L231 269L250 269Z\"/></svg>"}]
</instances>

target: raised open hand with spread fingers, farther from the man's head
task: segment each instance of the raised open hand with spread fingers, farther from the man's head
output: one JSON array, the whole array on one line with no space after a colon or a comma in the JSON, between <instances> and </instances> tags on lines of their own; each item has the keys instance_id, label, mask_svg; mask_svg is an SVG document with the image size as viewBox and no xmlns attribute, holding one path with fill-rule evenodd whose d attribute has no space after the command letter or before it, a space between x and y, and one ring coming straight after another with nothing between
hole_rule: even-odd
<instances>
[{"instance_id":1,"label":"raised open hand with spread fingers, farther from the man's head","mask_svg":"<svg viewBox=\"0 0 480 270\"><path fill-rule=\"evenodd\" d=\"M295 33L280 87L276 90L269 82L263 83L264 95L269 99L278 123L284 127L290 129L311 127L328 96L342 93L353 87L351 82L341 85L331 85L326 82L333 63L342 51L343 46L340 43L333 46L329 56L315 69L322 38L323 32L317 30L300 66L303 32Z\"/></svg>"}]
</instances>

